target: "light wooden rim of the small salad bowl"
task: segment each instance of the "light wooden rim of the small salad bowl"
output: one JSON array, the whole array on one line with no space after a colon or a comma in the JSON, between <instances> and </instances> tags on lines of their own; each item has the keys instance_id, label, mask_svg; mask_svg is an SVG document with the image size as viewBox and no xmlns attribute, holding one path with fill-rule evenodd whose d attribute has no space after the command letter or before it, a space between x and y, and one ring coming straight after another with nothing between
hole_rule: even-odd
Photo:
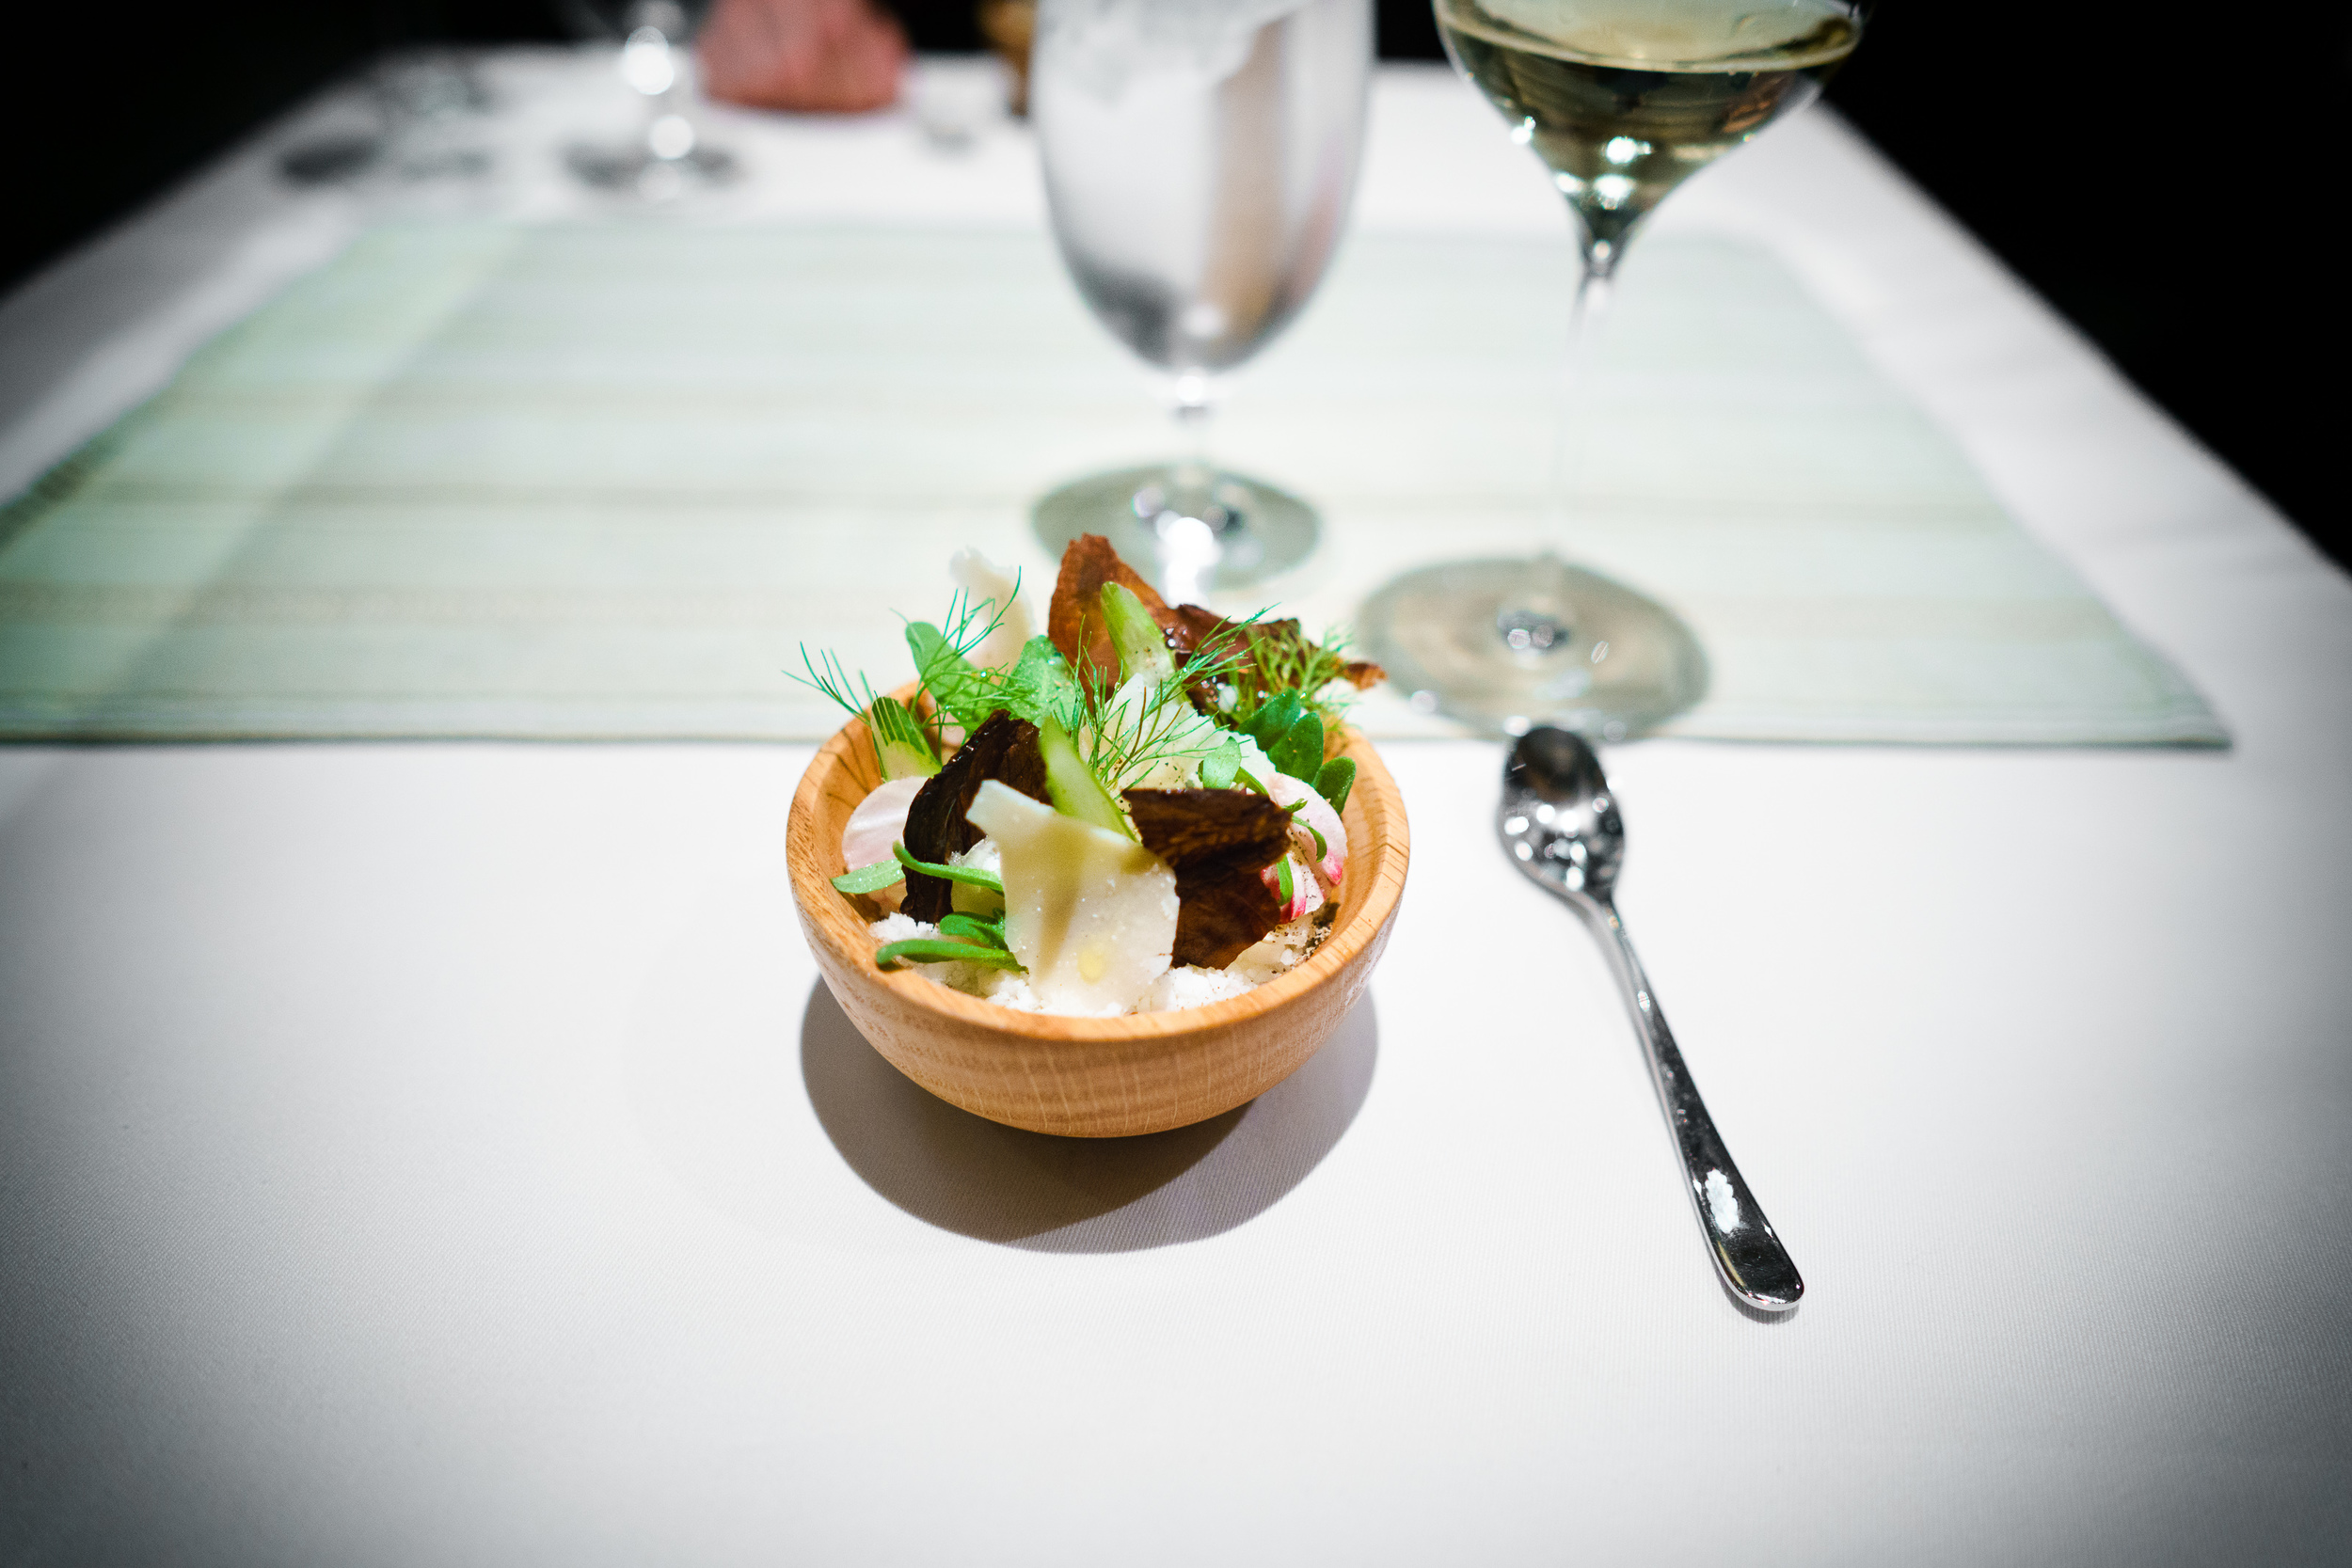
<instances>
[{"instance_id":1,"label":"light wooden rim of the small salad bowl","mask_svg":"<svg viewBox=\"0 0 2352 1568\"><path fill-rule=\"evenodd\" d=\"M898 701L913 701L915 682L908 682L891 696ZM793 896L800 900L802 914L809 917L809 929L826 940L837 957L849 961L868 983L887 985L906 1001L971 1023L985 1030L1000 1030L1004 1034L1016 1034L1023 1039L1035 1039L1042 1044L1094 1044L1094 1041L1145 1041L1164 1039L1176 1034L1195 1034L1204 1030L1223 1030L1254 1018L1275 1013L1291 1001L1310 994L1319 985L1338 978L1357 954L1369 947L1381 931L1388 926L1397 910L1397 900L1404 893L1404 867L1411 856L1411 837L1404 820L1404 797L1397 795L1397 780L1390 778L1388 766L1381 762L1381 752L1374 750L1371 741L1355 726L1341 726L1341 755L1355 759L1355 790L1364 795L1364 818L1371 825L1371 804L1378 802L1378 851L1371 863L1364 865L1362 875L1369 879L1362 903L1348 905L1341 900L1338 926L1324 936L1322 945L1308 954L1303 964L1282 973L1263 985L1242 992L1240 997L1225 997L1223 1001L1207 1001L1202 1006L1174 1009L1167 1013L1122 1013L1117 1018L1075 1018L1068 1013L1025 1013L1009 1006L997 1006L995 1001L983 1001L981 997L969 997L960 990L941 985L929 976L920 976L910 969L877 969L875 938L868 931L866 919L849 903L849 898L833 886L828 875L821 870L830 860L837 860L840 844L816 844L816 818L823 802L826 788L837 773L844 771L851 748L866 741L866 722L849 719L818 748L809 769L800 776L800 788L793 792L793 813L786 823L786 858L793 872ZM851 776L851 783L856 778ZM873 785L866 785L870 792ZM863 792L858 795L863 799ZM1348 804L1355 804L1352 799ZM797 853L795 853L797 851ZM1348 875L1355 879L1357 853L1350 844ZM844 867L847 870L847 867ZM1350 889L1352 891L1352 889Z\"/></svg>"}]
</instances>

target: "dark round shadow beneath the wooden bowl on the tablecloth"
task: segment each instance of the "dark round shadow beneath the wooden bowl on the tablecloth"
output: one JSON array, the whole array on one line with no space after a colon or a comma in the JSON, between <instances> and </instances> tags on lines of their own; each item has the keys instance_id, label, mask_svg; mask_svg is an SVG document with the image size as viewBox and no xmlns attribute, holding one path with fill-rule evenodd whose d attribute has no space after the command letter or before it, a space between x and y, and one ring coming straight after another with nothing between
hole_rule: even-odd
<instances>
[{"instance_id":1,"label":"dark round shadow beneath the wooden bowl on the tablecloth","mask_svg":"<svg viewBox=\"0 0 2352 1568\"><path fill-rule=\"evenodd\" d=\"M849 1168L910 1215L1042 1253L1131 1253L1216 1237L1282 1201L1355 1121L1378 1041L1367 997L1305 1067L1223 1117L1143 1138L1051 1138L903 1077L818 983L800 1074Z\"/></svg>"}]
</instances>

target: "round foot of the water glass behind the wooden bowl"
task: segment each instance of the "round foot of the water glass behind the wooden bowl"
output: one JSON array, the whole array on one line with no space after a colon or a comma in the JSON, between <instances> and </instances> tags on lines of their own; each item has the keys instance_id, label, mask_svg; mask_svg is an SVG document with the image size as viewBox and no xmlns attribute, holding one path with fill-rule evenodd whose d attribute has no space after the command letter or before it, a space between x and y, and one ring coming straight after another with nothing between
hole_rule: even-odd
<instances>
[{"instance_id":1,"label":"round foot of the water glass behind the wooden bowl","mask_svg":"<svg viewBox=\"0 0 2352 1568\"><path fill-rule=\"evenodd\" d=\"M1315 508L1298 496L1190 463L1073 480L1037 501L1033 524L1056 557L1080 534L1105 536L1178 604L1289 571L1322 531Z\"/></svg>"}]
</instances>

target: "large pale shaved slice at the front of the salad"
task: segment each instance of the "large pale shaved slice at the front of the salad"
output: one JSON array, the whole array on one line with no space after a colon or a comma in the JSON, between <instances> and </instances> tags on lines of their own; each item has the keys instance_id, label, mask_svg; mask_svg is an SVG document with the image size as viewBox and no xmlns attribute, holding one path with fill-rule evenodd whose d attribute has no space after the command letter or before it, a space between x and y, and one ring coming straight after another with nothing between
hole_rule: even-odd
<instances>
[{"instance_id":1,"label":"large pale shaved slice at the front of the salad","mask_svg":"<svg viewBox=\"0 0 2352 1568\"><path fill-rule=\"evenodd\" d=\"M997 844L1004 945L1049 1013L1124 1013L1176 952L1176 872L1134 839L990 778L964 820Z\"/></svg>"}]
</instances>

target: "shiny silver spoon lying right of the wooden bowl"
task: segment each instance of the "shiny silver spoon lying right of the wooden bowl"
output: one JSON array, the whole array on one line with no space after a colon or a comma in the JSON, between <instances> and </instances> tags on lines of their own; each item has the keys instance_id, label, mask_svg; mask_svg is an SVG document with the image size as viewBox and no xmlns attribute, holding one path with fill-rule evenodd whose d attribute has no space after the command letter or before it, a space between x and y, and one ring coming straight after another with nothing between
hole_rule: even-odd
<instances>
[{"instance_id":1,"label":"shiny silver spoon lying right of the wooden bowl","mask_svg":"<svg viewBox=\"0 0 2352 1568\"><path fill-rule=\"evenodd\" d=\"M1531 729L1510 748L1503 769L1503 804L1496 809L1496 832L1519 870L1559 893L1578 914L1609 936L1606 952L1625 987L1658 1103L1675 1131L1682 1168L1691 1178L1691 1206L1698 1229L1708 1237L1715 1269L1743 1302L1757 1312L1788 1312L1804 1295L1804 1279L1788 1248L1773 1234L1757 1206L1731 1150L1715 1133L1691 1070L1682 1065L1675 1034L1649 990L1642 959L1625 938L1611 893L1618 863L1625 858L1625 823L1602 759L1578 736L1564 729Z\"/></svg>"}]
</instances>

